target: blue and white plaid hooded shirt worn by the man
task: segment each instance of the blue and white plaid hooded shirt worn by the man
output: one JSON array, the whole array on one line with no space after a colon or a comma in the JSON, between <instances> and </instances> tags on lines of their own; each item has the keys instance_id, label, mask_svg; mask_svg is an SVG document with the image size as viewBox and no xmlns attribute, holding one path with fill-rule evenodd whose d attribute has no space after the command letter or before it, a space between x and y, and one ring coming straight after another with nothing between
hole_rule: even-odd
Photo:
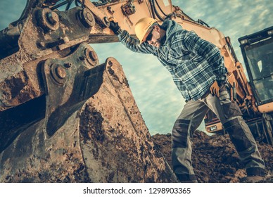
<instances>
[{"instance_id":1,"label":"blue and white plaid hooded shirt worn by the man","mask_svg":"<svg viewBox=\"0 0 273 197\"><path fill-rule=\"evenodd\" d=\"M126 30L121 30L118 37L132 51L157 56L160 63L170 71L186 101L201 98L215 80L226 80L227 68L224 67L224 58L217 46L201 39L194 32L182 30L172 20L166 20L162 27L164 25L166 41L160 48L145 42L139 44L139 40L129 36Z\"/></svg>"}]
</instances>

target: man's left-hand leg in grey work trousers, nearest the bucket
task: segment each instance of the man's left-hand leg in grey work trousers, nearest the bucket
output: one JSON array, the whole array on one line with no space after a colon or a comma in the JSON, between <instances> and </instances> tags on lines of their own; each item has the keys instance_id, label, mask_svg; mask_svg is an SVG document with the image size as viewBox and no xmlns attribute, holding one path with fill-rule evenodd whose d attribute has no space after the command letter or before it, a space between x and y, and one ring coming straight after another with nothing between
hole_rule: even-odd
<instances>
[{"instance_id":1,"label":"man's left-hand leg in grey work trousers, nearest the bucket","mask_svg":"<svg viewBox=\"0 0 273 197\"><path fill-rule=\"evenodd\" d=\"M208 106L202 101L189 101L172 129L172 166L181 182L194 182L196 176L191 165L191 134L201 124Z\"/></svg>"}]
</instances>

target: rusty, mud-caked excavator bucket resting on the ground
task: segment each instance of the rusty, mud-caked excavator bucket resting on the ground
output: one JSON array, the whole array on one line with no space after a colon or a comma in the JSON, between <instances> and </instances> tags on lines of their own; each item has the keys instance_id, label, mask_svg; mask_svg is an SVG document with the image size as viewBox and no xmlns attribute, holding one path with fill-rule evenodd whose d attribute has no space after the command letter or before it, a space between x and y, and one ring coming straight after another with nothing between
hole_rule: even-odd
<instances>
[{"instance_id":1,"label":"rusty, mud-caked excavator bucket resting on the ground","mask_svg":"<svg viewBox=\"0 0 273 197\"><path fill-rule=\"evenodd\" d=\"M120 63L96 65L91 55L81 44L44 61L45 115L1 129L0 182L177 182Z\"/></svg>"}]
</instances>

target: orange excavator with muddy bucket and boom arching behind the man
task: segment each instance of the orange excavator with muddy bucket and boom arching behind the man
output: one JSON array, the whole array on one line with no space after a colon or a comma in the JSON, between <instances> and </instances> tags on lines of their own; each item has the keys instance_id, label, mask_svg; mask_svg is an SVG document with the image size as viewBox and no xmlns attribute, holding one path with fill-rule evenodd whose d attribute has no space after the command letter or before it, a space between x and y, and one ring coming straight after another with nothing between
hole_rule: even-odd
<instances>
[{"instance_id":1,"label":"orange excavator with muddy bucket and boom arching behind the man","mask_svg":"<svg viewBox=\"0 0 273 197\"><path fill-rule=\"evenodd\" d=\"M91 47L118 42L108 28L111 18L135 36L143 17L175 20L215 44L232 99L272 143L272 100L255 97L265 76L248 83L229 37L172 1L27 0L20 18L0 31L0 182L177 182L122 66L112 57L100 64ZM248 44L250 59L256 48ZM211 112L205 124L208 132L222 129Z\"/></svg>"}]
</instances>

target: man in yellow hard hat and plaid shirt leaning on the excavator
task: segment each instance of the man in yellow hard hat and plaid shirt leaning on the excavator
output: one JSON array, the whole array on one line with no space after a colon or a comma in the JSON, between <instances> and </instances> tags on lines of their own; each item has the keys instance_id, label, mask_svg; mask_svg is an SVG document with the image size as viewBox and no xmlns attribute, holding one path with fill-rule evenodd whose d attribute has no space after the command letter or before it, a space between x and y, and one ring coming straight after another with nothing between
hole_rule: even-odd
<instances>
[{"instance_id":1,"label":"man in yellow hard hat and plaid shirt leaning on the excavator","mask_svg":"<svg viewBox=\"0 0 273 197\"><path fill-rule=\"evenodd\" d=\"M179 182L197 182L191 163L191 134L209 109L222 122L246 166L246 182L263 178L264 161L239 106L230 99L227 68L215 45L183 30L173 20L165 20L160 25L153 18L141 18L135 25L138 39L114 21L110 22L110 29L128 49L156 56L170 71L186 100L172 129L172 166Z\"/></svg>"}]
</instances>

